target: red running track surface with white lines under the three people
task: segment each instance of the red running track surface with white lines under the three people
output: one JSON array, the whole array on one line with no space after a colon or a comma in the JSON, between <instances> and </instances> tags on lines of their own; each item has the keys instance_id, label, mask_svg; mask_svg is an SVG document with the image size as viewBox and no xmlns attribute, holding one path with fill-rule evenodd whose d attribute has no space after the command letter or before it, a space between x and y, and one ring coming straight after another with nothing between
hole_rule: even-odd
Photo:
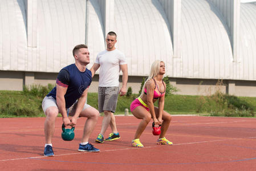
<instances>
[{"instance_id":1,"label":"red running track surface with white lines under the three people","mask_svg":"<svg viewBox=\"0 0 256 171\"><path fill-rule=\"evenodd\" d=\"M120 140L94 143L101 120L90 139L101 152L78 152L85 119L75 139L63 141L58 117L55 156L44 157L44 118L0 119L0 170L256 170L256 119L173 116L166 133L173 145L157 145L149 124L140 138L144 148L131 146L140 122L133 116L116 117Z\"/></svg>"}]
</instances>

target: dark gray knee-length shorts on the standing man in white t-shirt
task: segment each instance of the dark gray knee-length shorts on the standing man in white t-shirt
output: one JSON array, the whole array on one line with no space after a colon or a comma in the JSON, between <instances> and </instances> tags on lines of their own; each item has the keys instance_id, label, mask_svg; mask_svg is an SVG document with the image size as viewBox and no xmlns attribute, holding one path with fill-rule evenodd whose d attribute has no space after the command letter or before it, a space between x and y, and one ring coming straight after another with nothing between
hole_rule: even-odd
<instances>
[{"instance_id":1,"label":"dark gray knee-length shorts on the standing man in white t-shirt","mask_svg":"<svg viewBox=\"0 0 256 171\"><path fill-rule=\"evenodd\" d=\"M98 88L98 107L99 112L111 111L115 113L119 87L99 87Z\"/></svg>"}]
</instances>

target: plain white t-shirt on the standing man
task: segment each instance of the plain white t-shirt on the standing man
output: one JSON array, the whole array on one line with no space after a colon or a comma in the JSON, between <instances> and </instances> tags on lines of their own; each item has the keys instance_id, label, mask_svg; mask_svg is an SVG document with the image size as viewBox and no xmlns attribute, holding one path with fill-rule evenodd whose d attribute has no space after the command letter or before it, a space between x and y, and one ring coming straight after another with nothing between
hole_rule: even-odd
<instances>
[{"instance_id":1,"label":"plain white t-shirt on the standing man","mask_svg":"<svg viewBox=\"0 0 256 171\"><path fill-rule=\"evenodd\" d=\"M115 49L100 52L95 60L100 64L99 87L119 87L120 65L127 64L124 54Z\"/></svg>"}]
</instances>

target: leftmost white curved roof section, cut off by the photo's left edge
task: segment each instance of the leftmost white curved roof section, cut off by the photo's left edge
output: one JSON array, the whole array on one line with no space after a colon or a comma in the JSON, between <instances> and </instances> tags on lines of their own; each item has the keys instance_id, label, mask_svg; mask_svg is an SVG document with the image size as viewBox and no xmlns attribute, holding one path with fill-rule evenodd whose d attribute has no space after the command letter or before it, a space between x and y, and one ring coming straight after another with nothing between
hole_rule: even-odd
<instances>
[{"instance_id":1,"label":"leftmost white curved roof section, cut off by the photo's left edge","mask_svg":"<svg viewBox=\"0 0 256 171\"><path fill-rule=\"evenodd\" d=\"M19 2L19 3L18 3ZM19 7L21 6L21 8ZM1 1L0 70L26 70L27 34L24 3Z\"/></svg>"}]
</instances>

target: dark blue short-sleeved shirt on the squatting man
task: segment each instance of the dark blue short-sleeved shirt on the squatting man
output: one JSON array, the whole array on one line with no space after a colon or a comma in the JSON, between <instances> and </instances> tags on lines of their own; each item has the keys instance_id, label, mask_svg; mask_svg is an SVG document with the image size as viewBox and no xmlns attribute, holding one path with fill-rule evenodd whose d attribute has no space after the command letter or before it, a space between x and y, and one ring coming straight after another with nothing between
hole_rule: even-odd
<instances>
[{"instance_id":1,"label":"dark blue short-sleeved shirt on the squatting man","mask_svg":"<svg viewBox=\"0 0 256 171\"><path fill-rule=\"evenodd\" d=\"M82 96L84 90L90 86L92 82L92 72L88 69L81 72L78 70L75 64L64 67L62 70L67 71L67 75L65 76L67 82L65 83L68 85L68 88L64 98L66 101L66 108L69 108L75 103L76 100L79 99L79 97ZM59 79L57 80L59 81ZM56 87L54 87L47 96L52 96L56 100Z\"/></svg>"}]
</instances>

